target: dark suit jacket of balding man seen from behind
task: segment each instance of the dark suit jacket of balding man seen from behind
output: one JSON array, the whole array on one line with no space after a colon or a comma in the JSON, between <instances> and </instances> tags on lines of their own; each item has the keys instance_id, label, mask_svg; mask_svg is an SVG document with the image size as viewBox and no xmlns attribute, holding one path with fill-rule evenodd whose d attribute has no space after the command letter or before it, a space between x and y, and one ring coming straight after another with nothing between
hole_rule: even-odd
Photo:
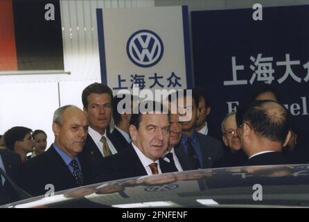
<instances>
[{"instance_id":1,"label":"dark suit jacket of balding man seen from behind","mask_svg":"<svg viewBox=\"0 0 309 222\"><path fill-rule=\"evenodd\" d=\"M271 152L262 153L251 157L245 163L246 166L259 166L259 165L276 165L276 164L288 164L288 160L284 157L282 153Z\"/></svg>"}]
</instances>

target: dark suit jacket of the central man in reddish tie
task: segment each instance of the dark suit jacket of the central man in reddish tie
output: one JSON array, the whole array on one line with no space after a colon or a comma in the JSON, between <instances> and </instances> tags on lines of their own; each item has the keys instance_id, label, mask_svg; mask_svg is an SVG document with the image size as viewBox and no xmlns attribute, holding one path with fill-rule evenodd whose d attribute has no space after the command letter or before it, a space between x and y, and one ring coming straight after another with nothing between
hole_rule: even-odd
<instances>
[{"instance_id":1,"label":"dark suit jacket of the central man in reddish tie","mask_svg":"<svg viewBox=\"0 0 309 222\"><path fill-rule=\"evenodd\" d=\"M166 166L161 167L161 165L160 169L162 173L171 171L171 169L166 169ZM121 153L105 157L101 161L96 174L96 182L148 175L131 144Z\"/></svg>"}]
</instances>

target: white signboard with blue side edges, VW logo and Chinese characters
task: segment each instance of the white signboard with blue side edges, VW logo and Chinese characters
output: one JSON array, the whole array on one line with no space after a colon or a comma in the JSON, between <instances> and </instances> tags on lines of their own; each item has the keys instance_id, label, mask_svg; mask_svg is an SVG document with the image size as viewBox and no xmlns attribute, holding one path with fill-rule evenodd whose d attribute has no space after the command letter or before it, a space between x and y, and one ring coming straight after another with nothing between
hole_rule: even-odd
<instances>
[{"instance_id":1,"label":"white signboard with blue side edges, VW logo and Chinese characters","mask_svg":"<svg viewBox=\"0 0 309 222\"><path fill-rule=\"evenodd\" d=\"M188 8L97 9L102 83L119 89L191 87Z\"/></svg>"}]
</instances>

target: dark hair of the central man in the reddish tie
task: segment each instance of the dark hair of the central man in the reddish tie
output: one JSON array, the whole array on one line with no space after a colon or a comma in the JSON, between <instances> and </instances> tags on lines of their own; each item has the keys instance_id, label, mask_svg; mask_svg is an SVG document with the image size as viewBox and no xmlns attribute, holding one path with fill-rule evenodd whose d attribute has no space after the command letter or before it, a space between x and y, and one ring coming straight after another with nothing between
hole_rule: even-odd
<instances>
[{"instance_id":1,"label":"dark hair of the central man in the reddish tie","mask_svg":"<svg viewBox=\"0 0 309 222\"><path fill-rule=\"evenodd\" d=\"M148 105L150 104L152 105L152 109L148 110ZM134 108L130 119L130 125L135 126L137 130L139 129L139 123L141 123L141 116L148 113L142 112L144 108L150 112L161 112L169 115L168 108L166 108L162 103L159 103L157 101L141 101L141 103L139 103L139 105Z\"/></svg>"}]
</instances>

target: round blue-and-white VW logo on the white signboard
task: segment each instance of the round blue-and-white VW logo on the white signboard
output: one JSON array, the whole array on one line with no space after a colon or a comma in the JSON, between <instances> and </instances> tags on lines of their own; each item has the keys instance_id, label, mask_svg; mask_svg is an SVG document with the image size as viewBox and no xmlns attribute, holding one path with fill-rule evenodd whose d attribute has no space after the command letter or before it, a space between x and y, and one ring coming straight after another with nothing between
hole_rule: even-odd
<instances>
[{"instance_id":1,"label":"round blue-and-white VW logo on the white signboard","mask_svg":"<svg viewBox=\"0 0 309 222\"><path fill-rule=\"evenodd\" d=\"M133 33L127 40L127 56L139 67L152 67L161 60L164 46L161 38L150 30Z\"/></svg>"}]
</instances>

